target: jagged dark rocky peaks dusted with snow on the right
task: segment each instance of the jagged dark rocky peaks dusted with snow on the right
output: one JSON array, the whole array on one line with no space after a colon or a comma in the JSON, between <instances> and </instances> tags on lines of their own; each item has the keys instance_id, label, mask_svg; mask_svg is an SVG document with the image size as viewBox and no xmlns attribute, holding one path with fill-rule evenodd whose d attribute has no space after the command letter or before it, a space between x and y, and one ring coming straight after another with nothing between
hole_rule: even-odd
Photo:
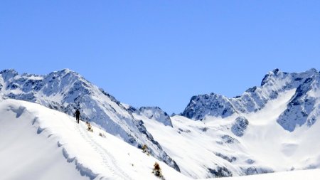
<instances>
[{"instance_id":1,"label":"jagged dark rocky peaks dusted with snow on the right","mask_svg":"<svg viewBox=\"0 0 320 180\"><path fill-rule=\"evenodd\" d=\"M278 97L286 90L297 89L297 93L288 104L287 110L277 122L284 129L293 131L299 125L313 125L319 112L319 73L315 69L304 73L284 73L279 69L270 71L263 78L260 87L246 90L242 95L228 98L215 93L191 97L181 115L193 120L203 120L206 116L229 117L242 113L262 110L267 102ZM312 91L316 96L307 95Z\"/></svg>"}]
</instances>

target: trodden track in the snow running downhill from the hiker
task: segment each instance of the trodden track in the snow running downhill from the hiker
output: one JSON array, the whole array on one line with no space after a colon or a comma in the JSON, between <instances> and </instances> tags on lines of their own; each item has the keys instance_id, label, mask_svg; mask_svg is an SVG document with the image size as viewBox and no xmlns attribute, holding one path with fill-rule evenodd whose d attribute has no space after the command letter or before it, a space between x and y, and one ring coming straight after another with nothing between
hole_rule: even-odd
<instances>
[{"instance_id":1,"label":"trodden track in the snow running downhill from the hiker","mask_svg":"<svg viewBox=\"0 0 320 180\"><path fill-rule=\"evenodd\" d=\"M100 155L103 162L102 165L105 166L106 169L110 169L110 171L112 171L112 174L114 174L114 176L118 176L119 179L133 180L128 174L126 174L124 171L122 171L122 169L119 168L116 159L112 156L112 154L110 154L110 152L107 151L107 149L103 148L99 143L95 142L95 140L86 132L87 130L83 132L84 128L82 127L81 122L78 125L75 124L75 129L79 132L83 139L85 139L85 141L90 144L93 149L95 149L95 152Z\"/></svg>"}]
</instances>

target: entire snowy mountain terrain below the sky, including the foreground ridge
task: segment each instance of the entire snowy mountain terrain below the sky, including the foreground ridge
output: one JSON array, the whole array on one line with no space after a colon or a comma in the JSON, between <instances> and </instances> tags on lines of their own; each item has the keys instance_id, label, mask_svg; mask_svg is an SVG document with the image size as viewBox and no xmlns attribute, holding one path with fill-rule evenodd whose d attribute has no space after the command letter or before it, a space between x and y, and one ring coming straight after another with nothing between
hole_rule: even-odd
<instances>
[{"instance_id":1,"label":"entire snowy mountain terrain below the sky, including the foreground ridge","mask_svg":"<svg viewBox=\"0 0 320 180\"><path fill-rule=\"evenodd\" d=\"M159 179L155 162L164 179L316 179L319 77L272 70L240 96L193 96L169 116L119 102L68 69L3 70L1 179Z\"/></svg>"}]
</instances>

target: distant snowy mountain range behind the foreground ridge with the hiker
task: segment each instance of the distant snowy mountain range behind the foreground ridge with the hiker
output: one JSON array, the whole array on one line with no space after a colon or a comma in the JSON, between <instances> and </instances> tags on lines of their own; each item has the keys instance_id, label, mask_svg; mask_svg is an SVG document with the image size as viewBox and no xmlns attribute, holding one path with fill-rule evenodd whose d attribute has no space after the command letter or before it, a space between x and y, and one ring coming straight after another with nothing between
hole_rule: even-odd
<instances>
[{"instance_id":1,"label":"distant snowy mountain range behind the foreground ridge with the hiker","mask_svg":"<svg viewBox=\"0 0 320 180\"><path fill-rule=\"evenodd\" d=\"M152 157L184 175L179 179L207 179L320 168L319 75L275 69L240 96L196 95L170 117L159 107L119 102L72 70L2 70L0 101L35 102L71 116L80 108L82 121L132 147L146 144Z\"/></svg>"}]
</instances>

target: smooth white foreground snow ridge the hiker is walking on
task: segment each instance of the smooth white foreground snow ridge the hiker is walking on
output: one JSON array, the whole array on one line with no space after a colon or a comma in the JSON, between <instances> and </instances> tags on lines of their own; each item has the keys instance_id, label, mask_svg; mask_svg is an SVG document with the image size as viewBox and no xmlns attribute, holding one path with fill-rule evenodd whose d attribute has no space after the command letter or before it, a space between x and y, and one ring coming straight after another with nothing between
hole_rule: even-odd
<instances>
[{"instance_id":1,"label":"smooth white foreground snow ridge the hiker is walking on","mask_svg":"<svg viewBox=\"0 0 320 180\"><path fill-rule=\"evenodd\" d=\"M1 179L159 179L151 173L159 160L62 112L7 99L0 114ZM159 164L165 179L188 179Z\"/></svg>"}]
</instances>

